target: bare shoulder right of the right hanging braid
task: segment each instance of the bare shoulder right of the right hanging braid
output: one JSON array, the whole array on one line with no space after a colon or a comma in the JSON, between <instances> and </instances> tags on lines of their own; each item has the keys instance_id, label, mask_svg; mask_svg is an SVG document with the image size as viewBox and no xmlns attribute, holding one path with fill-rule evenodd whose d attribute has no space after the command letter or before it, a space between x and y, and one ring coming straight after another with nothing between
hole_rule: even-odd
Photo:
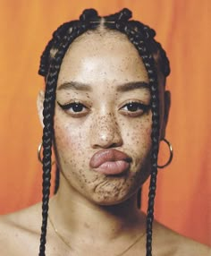
<instances>
[{"instance_id":1,"label":"bare shoulder right of the right hanging braid","mask_svg":"<svg viewBox=\"0 0 211 256\"><path fill-rule=\"evenodd\" d=\"M172 256L209 256L211 248L205 244L198 243L183 235L175 233L173 230L155 222L154 242L156 248L162 252L158 255Z\"/></svg>"}]
</instances>

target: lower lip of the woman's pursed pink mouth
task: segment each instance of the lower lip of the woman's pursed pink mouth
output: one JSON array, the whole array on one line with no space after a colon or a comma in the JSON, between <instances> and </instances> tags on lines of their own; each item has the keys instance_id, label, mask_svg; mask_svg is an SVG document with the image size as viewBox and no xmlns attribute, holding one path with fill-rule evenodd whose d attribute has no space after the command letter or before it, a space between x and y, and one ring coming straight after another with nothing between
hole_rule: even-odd
<instances>
[{"instance_id":1,"label":"lower lip of the woman's pursed pink mouth","mask_svg":"<svg viewBox=\"0 0 211 256\"><path fill-rule=\"evenodd\" d=\"M119 161L107 161L102 165L98 166L94 170L104 175L120 175L127 171L130 167L128 162L123 160Z\"/></svg>"}]
</instances>

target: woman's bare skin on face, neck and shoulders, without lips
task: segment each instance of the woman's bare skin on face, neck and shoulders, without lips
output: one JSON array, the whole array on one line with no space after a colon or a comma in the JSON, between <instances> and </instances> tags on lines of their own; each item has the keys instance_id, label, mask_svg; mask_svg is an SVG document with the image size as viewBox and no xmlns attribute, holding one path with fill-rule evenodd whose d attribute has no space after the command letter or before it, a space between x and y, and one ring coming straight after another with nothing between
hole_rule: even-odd
<instances>
[{"instance_id":1,"label":"woman's bare skin on face, neck and shoulders, without lips","mask_svg":"<svg viewBox=\"0 0 211 256\"><path fill-rule=\"evenodd\" d=\"M165 136L169 93L160 73L161 131ZM86 90L63 86L77 81ZM148 178L151 148L151 111L130 111L128 102L148 105L146 88L119 91L129 82L148 83L136 49L118 32L103 29L76 39L63 58L56 102L72 99L85 107L77 114L55 105L55 156L61 170L60 188L50 200L49 215L70 249L47 226L46 255L145 255L146 216L137 209L136 192ZM88 90L89 89L89 90ZM42 120L43 92L38 96ZM102 175L89 166L101 149L118 149L131 157L129 172ZM1 255L38 255L40 204L0 219ZM23 244L27 244L27 249ZM190 241L154 223L155 255L208 255L207 246Z\"/></svg>"}]
</instances>

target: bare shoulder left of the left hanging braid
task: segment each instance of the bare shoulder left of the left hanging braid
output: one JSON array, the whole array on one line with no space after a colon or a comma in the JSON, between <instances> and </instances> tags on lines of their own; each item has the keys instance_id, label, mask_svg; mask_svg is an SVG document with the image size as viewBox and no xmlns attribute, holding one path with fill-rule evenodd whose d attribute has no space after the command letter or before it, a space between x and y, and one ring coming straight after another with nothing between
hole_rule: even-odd
<instances>
[{"instance_id":1,"label":"bare shoulder left of the left hanging braid","mask_svg":"<svg viewBox=\"0 0 211 256\"><path fill-rule=\"evenodd\" d=\"M0 217L2 256L38 255L40 210L38 205Z\"/></svg>"}]
</instances>

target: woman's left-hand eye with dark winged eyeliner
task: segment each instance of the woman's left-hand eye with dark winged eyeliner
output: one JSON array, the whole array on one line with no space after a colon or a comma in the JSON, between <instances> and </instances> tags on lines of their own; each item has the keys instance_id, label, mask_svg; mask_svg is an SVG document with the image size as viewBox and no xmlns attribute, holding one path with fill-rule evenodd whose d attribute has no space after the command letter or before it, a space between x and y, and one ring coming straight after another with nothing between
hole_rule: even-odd
<instances>
[{"instance_id":1,"label":"woman's left-hand eye with dark winged eyeliner","mask_svg":"<svg viewBox=\"0 0 211 256\"><path fill-rule=\"evenodd\" d=\"M68 104L60 104L57 101L59 107L61 107L67 114L70 114L72 116L81 116L81 115L86 115L89 111L88 107L84 106L82 103L79 101L74 101L70 102Z\"/></svg>"}]
</instances>

